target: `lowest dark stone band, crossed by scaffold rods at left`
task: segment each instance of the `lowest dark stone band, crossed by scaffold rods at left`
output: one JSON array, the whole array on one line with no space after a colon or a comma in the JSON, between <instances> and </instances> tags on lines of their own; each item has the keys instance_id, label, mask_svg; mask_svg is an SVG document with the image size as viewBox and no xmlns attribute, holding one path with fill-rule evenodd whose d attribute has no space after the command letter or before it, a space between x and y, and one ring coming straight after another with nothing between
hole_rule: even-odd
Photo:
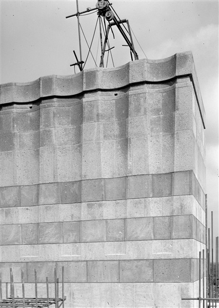
<instances>
[{"instance_id":1,"label":"lowest dark stone band, crossed by scaffold rods at left","mask_svg":"<svg viewBox=\"0 0 219 308\"><path fill-rule=\"evenodd\" d=\"M34 282L34 269L38 282L45 283L46 276L49 282L53 282L56 267L57 278L62 282L62 266L65 268L64 282L67 283L193 282L197 280L198 273L197 259L1 263L2 282L7 281L9 267L23 269L25 282L28 283ZM21 275L16 274L14 282L21 282Z\"/></svg>"}]
</instances>

